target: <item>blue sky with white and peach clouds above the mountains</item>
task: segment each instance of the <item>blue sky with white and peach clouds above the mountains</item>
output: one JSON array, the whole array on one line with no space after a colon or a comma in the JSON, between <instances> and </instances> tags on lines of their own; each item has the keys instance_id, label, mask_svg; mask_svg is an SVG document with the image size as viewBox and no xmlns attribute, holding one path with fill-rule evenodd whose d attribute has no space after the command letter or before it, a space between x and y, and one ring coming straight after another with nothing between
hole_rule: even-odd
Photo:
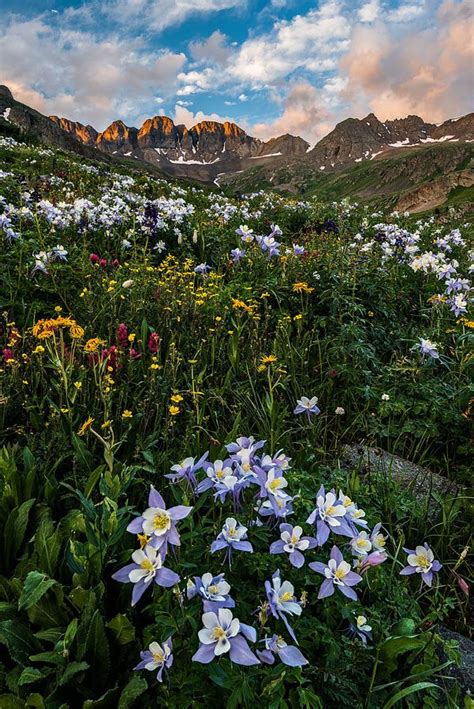
<instances>
[{"instance_id":1,"label":"blue sky with white and peach clouds above the mountains","mask_svg":"<svg viewBox=\"0 0 474 709\"><path fill-rule=\"evenodd\" d=\"M0 84L103 130L232 120L311 144L349 116L473 110L474 0L0 0Z\"/></svg>"}]
</instances>

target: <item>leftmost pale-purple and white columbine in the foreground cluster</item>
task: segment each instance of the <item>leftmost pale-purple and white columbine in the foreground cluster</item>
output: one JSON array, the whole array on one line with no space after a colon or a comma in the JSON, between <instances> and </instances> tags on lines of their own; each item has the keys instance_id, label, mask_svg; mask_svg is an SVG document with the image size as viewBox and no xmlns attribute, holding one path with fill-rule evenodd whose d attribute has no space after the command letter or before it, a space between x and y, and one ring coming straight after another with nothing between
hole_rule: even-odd
<instances>
[{"instance_id":1,"label":"leftmost pale-purple and white columbine in the foreground cluster","mask_svg":"<svg viewBox=\"0 0 474 709\"><path fill-rule=\"evenodd\" d=\"M169 588L179 582L179 576L163 566L161 554L147 544L132 554L133 564L127 564L112 575L120 583L133 583L132 606L134 606L154 581L158 586Z\"/></svg>"}]
</instances>

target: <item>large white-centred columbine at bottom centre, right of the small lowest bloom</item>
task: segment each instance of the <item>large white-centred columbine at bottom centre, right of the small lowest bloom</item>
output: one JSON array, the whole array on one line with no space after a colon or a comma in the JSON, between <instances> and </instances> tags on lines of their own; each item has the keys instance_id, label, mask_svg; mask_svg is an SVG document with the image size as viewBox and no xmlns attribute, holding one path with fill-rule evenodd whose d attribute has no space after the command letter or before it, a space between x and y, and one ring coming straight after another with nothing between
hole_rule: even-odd
<instances>
[{"instance_id":1,"label":"large white-centred columbine at bottom centre, right of the small lowest bloom","mask_svg":"<svg viewBox=\"0 0 474 709\"><path fill-rule=\"evenodd\" d=\"M203 628L199 631L199 649L193 655L194 662L208 664L215 657L229 653L231 662L237 665L258 665L259 660L247 644L255 642L257 634L250 625L234 618L228 608L219 608L202 615Z\"/></svg>"}]
</instances>

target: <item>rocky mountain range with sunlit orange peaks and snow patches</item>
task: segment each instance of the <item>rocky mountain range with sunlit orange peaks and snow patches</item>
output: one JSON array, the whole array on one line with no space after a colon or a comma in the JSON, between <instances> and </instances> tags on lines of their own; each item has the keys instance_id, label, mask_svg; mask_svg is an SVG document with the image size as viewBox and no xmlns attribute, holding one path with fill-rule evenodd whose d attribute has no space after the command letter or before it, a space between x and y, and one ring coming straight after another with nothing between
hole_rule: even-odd
<instances>
[{"instance_id":1,"label":"rocky mountain range with sunlit orange peaks and snow patches","mask_svg":"<svg viewBox=\"0 0 474 709\"><path fill-rule=\"evenodd\" d=\"M474 146L469 145L474 143L474 113L440 124L427 123L414 115L382 122L370 113L362 119L348 118L338 123L316 145L310 146L302 138L289 134L261 141L235 123L201 121L187 128L161 115L148 118L140 128L117 120L99 132L91 125L68 118L46 117L15 101L10 90L1 86L0 122L2 119L33 133L42 142L88 157L133 160L169 175L219 186L231 184L240 188L250 183L258 187L264 183L304 192L308 184L324 187L339 180L342 173L360 174L358 168L364 166L362 172L366 172L367 163L399 160L401 156L408 161L407 170L413 172L413 164L417 165L418 183L423 182L423 173L430 168L423 167L426 160L420 160L420 155L436 155L435 163L442 177L446 177L446 170L463 173L461 177L456 174L450 178L446 189L459 185L470 188L474 183L470 162ZM418 158L413 160L415 154ZM440 166L441 154L458 156L454 167L452 159L442 161ZM433 157L428 160L433 164ZM395 172L400 172L400 166ZM323 175L328 179L321 181Z\"/></svg>"}]
</instances>

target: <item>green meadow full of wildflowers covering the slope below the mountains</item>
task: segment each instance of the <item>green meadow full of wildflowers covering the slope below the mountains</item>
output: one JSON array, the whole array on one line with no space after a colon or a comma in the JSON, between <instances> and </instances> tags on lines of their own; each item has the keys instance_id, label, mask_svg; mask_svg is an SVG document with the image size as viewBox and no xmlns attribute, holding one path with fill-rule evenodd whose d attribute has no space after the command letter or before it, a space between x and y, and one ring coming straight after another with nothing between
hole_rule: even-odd
<instances>
[{"instance_id":1,"label":"green meadow full of wildflowers covering the slope below the mountains","mask_svg":"<svg viewBox=\"0 0 474 709\"><path fill-rule=\"evenodd\" d=\"M465 218L233 199L11 138L0 160L0 705L458 706ZM354 441L459 492L347 469Z\"/></svg>"}]
</instances>

